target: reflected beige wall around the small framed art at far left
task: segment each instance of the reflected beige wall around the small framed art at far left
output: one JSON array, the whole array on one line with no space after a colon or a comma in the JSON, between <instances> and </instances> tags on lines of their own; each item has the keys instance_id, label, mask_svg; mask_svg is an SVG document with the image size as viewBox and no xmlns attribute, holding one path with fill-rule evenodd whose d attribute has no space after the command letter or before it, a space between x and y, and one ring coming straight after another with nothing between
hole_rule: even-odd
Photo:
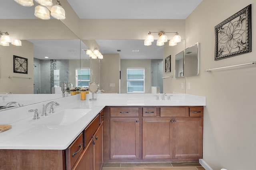
<instances>
[{"instance_id":1,"label":"reflected beige wall around the small framed art at far left","mask_svg":"<svg viewBox=\"0 0 256 170\"><path fill-rule=\"evenodd\" d=\"M13 55L28 59L28 74L13 72ZM0 45L0 93L12 92L14 94L33 94L33 44L22 40L22 46ZM32 79L8 78L32 77Z\"/></svg>"}]
</instances>

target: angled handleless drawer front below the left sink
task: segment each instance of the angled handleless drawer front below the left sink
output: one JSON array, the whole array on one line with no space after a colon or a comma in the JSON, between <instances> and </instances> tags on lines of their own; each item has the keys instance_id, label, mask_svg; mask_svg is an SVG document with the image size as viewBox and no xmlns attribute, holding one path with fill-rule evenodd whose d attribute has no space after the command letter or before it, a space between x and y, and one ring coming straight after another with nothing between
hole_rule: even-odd
<instances>
[{"instance_id":1,"label":"angled handleless drawer front below the left sink","mask_svg":"<svg viewBox=\"0 0 256 170\"><path fill-rule=\"evenodd\" d=\"M98 129L98 127L100 126L99 124L99 118L100 115L97 115L94 120L88 125L88 127L86 127L86 129L84 130L84 147L86 147L86 145L89 143L89 141L92 138L92 135L94 135L94 133L96 132L96 130Z\"/></svg>"}]
</instances>

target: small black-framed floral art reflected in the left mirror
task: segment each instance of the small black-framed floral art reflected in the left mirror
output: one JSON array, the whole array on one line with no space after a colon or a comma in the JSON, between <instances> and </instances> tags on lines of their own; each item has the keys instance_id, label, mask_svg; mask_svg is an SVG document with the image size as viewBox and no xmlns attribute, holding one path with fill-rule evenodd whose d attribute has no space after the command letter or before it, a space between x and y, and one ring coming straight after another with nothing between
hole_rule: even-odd
<instances>
[{"instance_id":1,"label":"small black-framed floral art reflected in the left mirror","mask_svg":"<svg viewBox=\"0 0 256 170\"><path fill-rule=\"evenodd\" d=\"M28 59L14 55L13 72L28 74Z\"/></svg>"}]
</instances>

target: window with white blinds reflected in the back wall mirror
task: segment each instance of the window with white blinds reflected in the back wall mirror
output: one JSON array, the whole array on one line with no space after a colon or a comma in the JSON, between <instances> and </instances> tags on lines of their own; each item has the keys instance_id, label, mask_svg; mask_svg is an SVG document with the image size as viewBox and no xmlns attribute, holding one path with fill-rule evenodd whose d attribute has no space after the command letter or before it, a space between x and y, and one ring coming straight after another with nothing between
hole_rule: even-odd
<instances>
[{"instance_id":1,"label":"window with white blinds reflected in the back wall mirror","mask_svg":"<svg viewBox=\"0 0 256 170\"><path fill-rule=\"evenodd\" d=\"M145 68L127 68L127 93L144 93Z\"/></svg>"}]
</instances>

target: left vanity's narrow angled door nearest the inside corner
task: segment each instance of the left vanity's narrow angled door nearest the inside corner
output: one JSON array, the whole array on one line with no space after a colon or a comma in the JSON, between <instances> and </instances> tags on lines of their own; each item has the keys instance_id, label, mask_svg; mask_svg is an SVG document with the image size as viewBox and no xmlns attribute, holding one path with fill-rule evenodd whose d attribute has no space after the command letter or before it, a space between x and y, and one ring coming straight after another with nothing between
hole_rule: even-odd
<instances>
[{"instance_id":1,"label":"left vanity's narrow angled door nearest the inside corner","mask_svg":"<svg viewBox=\"0 0 256 170\"><path fill-rule=\"evenodd\" d=\"M94 137L94 161L95 170L101 170L103 165L103 122L96 131Z\"/></svg>"}]
</instances>

